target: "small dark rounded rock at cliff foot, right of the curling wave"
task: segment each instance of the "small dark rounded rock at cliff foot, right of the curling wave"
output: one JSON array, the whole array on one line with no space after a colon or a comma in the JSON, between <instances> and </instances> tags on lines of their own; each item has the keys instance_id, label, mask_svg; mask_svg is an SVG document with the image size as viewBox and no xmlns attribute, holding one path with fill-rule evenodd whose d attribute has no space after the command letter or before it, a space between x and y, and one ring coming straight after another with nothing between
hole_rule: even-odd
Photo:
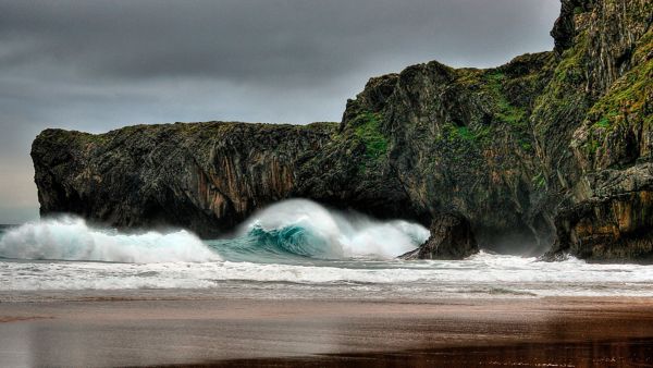
<instances>
[{"instance_id":1,"label":"small dark rounded rock at cliff foot, right of the curling wave","mask_svg":"<svg viewBox=\"0 0 653 368\"><path fill-rule=\"evenodd\" d=\"M402 259L464 259L479 252L469 221L460 214L436 216L431 236L419 248L399 256Z\"/></svg>"}]
</instances>

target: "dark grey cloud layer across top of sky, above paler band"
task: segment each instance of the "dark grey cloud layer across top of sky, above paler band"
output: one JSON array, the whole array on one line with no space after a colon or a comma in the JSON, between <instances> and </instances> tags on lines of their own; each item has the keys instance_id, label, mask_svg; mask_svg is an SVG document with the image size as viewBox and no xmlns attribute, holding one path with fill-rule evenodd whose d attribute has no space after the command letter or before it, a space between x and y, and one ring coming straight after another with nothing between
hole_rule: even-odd
<instances>
[{"instance_id":1,"label":"dark grey cloud layer across top of sky, above paler band","mask_svg":"<svg viewBox=\"0 0 653 368\"><path fill-rule=\"evenodd\" d=\"M486 65L549 46L555 8L535 0L16 1L2 7L9 51L1 60L8 68L54 62L94 77L264 82L317 81L412 54Z\"/></svg>"}]
</instances>

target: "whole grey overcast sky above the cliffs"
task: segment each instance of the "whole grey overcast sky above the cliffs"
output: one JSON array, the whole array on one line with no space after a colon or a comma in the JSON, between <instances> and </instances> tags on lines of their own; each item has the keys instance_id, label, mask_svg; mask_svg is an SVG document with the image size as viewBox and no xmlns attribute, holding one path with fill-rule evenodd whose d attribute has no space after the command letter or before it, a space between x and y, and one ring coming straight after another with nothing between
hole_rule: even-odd
<instances>
[{"instance_id":1,"label":"whole grey overcast sky above the cliffs","mask_svg":"<svg viewBox=\"0 0 653 368\"><path fill-rule=\"evenodd\" d=\"M374 75L551 50L558 0L0 0L0 223L46 127L340 121Z\"/></svg>"}]
</instances>

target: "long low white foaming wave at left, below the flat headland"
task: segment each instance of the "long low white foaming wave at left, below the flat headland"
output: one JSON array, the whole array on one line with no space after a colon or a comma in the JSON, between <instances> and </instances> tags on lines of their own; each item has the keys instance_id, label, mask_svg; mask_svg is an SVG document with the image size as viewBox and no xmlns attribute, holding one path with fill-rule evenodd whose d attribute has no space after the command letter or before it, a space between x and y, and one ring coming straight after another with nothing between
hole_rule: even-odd
<instances>
[{"instance_id":1,"label":"long low white foaming wave at left, below the flat headland","mask_svg":"<svg viewBox=\"0 0 653 368\"><path fill-rule=\"evenodd\" d=\"M0 257L135 263L221 259L187 231L128 235L94 229L72 217L29 222L9 230L0 240Z\"/></svg>"}]
</instances>

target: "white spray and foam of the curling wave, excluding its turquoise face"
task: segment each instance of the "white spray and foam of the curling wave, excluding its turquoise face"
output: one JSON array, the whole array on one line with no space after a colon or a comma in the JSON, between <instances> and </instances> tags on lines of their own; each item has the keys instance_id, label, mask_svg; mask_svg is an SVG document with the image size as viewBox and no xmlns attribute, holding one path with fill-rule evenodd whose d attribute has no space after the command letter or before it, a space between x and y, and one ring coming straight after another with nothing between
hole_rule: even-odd
<instances>
[{"instance_id":1,"label":"white spray and foam of the curling wave, excluding its turquoise face","mask_svg":"<svg viewBox=\"0 0 653 368\"><path fill-rule=\"evenodd\" d=\"M412 250L429 237L420 224L407 221L377 221L362 214L326 209L306 199L289 199L272 205L251 217L241 229L267 231L303 228L323 243L324 254L335 258L394 258Z\"/></svg>"}]
</instances>

